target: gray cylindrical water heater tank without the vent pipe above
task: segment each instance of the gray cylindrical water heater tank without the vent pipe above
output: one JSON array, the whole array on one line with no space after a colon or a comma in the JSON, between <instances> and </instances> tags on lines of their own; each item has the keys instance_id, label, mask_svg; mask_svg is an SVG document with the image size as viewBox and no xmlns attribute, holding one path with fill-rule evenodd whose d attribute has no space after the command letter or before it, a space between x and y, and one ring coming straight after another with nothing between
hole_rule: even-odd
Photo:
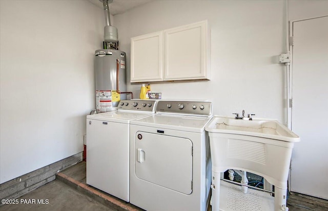
<instances>
[{"instance_id":1,"label":"gray cylindrical water heater tank without the vent pipe above","mask_svg":"<svg viewBox=\"0 0 328 211\"><path fill-rule=\"evenodd\" d=\"M125 64L125 52L113 49L95 51L97 113L117 110L118 102L127 99Z\"/></svg>"}]
</instances>

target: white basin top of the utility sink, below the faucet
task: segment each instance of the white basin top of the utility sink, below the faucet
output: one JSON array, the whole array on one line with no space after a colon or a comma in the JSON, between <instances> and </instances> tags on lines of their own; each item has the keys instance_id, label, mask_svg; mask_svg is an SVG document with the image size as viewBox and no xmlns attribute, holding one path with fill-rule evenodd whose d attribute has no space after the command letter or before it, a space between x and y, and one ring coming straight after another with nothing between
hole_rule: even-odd
<instances>
[{"instance_id":1,"label":"white basin top of the utility sink, below the faucet","mask_svg":"<svg viewBox=\"0 0 328 211\"><path fill-rule=\"evenodd\" d=\"M206 130L215 133L230 133L263 138L299 142L298 135L275 120L257 119L237 120L233 117L214 116Z\"/></svg>"}]
</instances>

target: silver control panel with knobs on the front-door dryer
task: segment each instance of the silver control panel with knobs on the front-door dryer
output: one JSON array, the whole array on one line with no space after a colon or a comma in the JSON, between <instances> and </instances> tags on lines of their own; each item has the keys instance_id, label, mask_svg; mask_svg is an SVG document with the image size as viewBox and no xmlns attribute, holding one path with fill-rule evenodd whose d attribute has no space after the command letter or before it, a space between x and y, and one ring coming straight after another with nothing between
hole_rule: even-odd
<instances>
[{"instance_id":1,"label":"silver control panel with knobs on the front-door dryer","mask_svg":"<svg viewBox=\"0 0 328 211\"><path fill-rule=\"evenodd\" d=\"M212 103L208 101L159 101L156 112L212 115Z\"/></svg>"}]
</instances>

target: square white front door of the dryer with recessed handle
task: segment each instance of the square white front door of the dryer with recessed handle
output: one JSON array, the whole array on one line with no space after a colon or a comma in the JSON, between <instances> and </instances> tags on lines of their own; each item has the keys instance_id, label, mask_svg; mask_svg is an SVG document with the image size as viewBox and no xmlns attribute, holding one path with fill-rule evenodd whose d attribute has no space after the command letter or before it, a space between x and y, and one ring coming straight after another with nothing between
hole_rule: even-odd
<instances>
[{"instance_id":1,"label":"square white front door of the dryer with recessed handle","mask_svg":"<svg viewBox=\"0 0 328 211\"><path fill-rule=\"evenodd\" d=\"M183 194L192 193L192 142L163 134L137 132L135 174Z\"/></svg>"}]
</instances>

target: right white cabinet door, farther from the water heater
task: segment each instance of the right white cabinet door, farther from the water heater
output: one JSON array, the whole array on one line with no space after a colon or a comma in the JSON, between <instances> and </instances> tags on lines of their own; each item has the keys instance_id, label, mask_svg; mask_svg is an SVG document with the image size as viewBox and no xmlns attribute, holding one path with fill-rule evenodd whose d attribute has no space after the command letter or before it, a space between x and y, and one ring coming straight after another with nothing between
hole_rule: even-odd
<instances>
[{"instance_id":1,"label":"right white cabinet door, farther from the water heater","mask_svg":"<svg viewBox=\"0 0 328 211\"><path fill-rule=\"evenodd\" d=\"M165 31L165 79L209 79L207 21Z\"/></svg>"}]
</instances>

